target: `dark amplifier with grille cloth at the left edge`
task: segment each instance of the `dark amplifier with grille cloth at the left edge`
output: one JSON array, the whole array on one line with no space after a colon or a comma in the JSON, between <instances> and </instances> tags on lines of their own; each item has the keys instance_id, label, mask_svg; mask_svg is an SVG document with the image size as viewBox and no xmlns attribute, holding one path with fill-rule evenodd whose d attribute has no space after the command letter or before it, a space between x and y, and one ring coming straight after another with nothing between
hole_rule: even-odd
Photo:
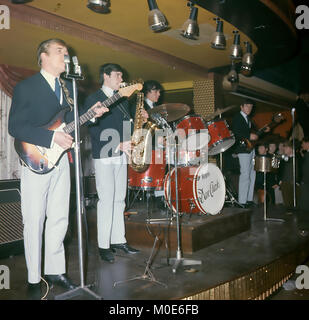
<instances>
[{"instance_id":1,"label":"dark amplifier with grille cloth at the left edge","mask_svg":"<svg viewBox=\"0 0 309 320\"><path fill-rule=\"evenodd\" d=\"M0 259L24 252L20 191L0 190Z\"/></svg>"}]
</instances>

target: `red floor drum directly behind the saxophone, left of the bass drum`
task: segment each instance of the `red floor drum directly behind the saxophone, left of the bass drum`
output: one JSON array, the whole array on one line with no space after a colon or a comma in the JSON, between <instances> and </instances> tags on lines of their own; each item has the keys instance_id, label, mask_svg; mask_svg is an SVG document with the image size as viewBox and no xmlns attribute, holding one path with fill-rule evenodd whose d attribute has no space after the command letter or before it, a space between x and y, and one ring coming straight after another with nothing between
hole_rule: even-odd
<instances>
[{"instance_id":1,"label":"red floor drum directly behind the saxophone, left of the bass drum","mask_svg":"<svg viewBox=\"0 0 309 320\"><path fill-rule=\"evenodd\" d=\"M165 151L152 150L152 159L145 172L136 172L128 166L128 188L143 190L163 190L166 168Z\"/></svg>"}]
</instances>

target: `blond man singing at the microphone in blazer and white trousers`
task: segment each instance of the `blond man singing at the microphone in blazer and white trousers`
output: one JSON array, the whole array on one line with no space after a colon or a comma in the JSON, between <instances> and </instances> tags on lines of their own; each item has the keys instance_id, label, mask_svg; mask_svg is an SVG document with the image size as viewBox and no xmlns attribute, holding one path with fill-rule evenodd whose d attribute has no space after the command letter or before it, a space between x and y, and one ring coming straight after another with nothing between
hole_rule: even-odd
<instances>
[{"instance_id":1,"label":"blond man singing at the microphone in blazer and white trousers","mask_svg":"<svg viewBox=\"0 0 309 320\"><path fill-rule=\"evenodd\" d=\"M60 79L65 71L64 55L67 46L60 39L43 41L37 50L39 73L21 81L14 88L9 115L9 133L30 144L63 149L72 146L73 138L63 131L44 128L59 111L70 107L66 121L74 118L72 112L72 86ZM64 88L68 86L68 91ZM108 111L96 109L96 116ZM44 273L50 283L73 289L75 285L65 275L63 240L67 231L70 198L70 168L67 155L63 155L56 168L45 174L21 167L21 209L24 223L24 246L28 269L28 289L40 294L41 250L45 222Z\"/></svg>"}]
</instances>

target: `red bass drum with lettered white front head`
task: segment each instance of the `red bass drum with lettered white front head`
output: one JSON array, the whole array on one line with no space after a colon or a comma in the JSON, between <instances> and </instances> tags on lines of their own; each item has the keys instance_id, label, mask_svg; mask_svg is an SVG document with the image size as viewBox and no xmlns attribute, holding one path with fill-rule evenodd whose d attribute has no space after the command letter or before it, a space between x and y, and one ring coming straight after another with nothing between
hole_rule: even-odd
<instances>
[{"instance_id":1,"label":"red bass drum with lettered white front head","mask_svg":"<svg viewBox=\"0 0 309 320\"><path fill-rule=\"evenodd\" d=\"M199 167L182 167L177 171L178 210L180 213L218 214L225 202L225 181L212 163ZM169 197L171 194L171 197ZM164 197L176 212L175 168L164 179Z\"/></svg>"}]
</instances>

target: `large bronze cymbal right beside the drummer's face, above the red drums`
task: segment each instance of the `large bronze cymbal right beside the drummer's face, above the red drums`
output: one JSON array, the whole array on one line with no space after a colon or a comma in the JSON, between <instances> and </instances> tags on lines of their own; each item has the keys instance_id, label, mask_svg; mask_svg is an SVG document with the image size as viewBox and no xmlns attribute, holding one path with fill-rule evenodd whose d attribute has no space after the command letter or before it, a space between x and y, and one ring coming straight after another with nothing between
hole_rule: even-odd
<instances>
[{"instance_id":1,"label":"large bronze cymbal right beside the drummer's face, above the red drums","mask_svg":"<svg viewBox=\"0 0 309 320\"><path fill-rule=\"evenodd\" d=\"M190 107L182 103L165 103L148 111L148 114L160 113L167 122L175 121L185 116L190 111Z\"/></svg>"}]
</instances>

